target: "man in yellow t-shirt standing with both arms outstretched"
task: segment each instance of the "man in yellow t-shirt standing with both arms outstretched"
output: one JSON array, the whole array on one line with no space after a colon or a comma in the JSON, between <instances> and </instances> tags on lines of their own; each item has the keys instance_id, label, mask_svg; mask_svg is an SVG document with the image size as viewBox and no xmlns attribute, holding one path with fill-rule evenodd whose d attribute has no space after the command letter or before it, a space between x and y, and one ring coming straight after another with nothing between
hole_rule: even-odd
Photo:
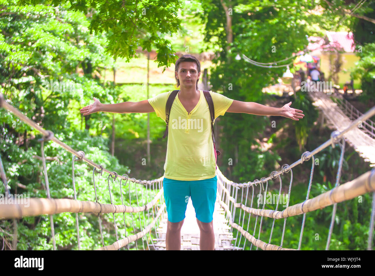
<instances>
[{"instance_id":1,"label":"man in yellow t-shirt standing with both arms outstretched","mask_svg":"<svg viewBox=\"0 0 375 276\"><path fill-rule=\"evenodd\" d=\"M169 115L168 142L164 164L163 189L168 214L166 250L181 249L181 227L189 197L195 208L200 229L200 249L214 250L213 210L216 201L216 161L211 137L211 117L202 90L198 90L201 65L190 54L181 56L175 63L175 79L180 86ZM156 112L166 120L165 105L171 91L137 103L101 104L95 102L81 109L93 112L145 113ZM214 118L225 112L255 115L279 115L299 121L302 110L293 109L290 103L282 108L268 107L253 102L229 99L210 91L214 104ZM299 113L301 112L301 113ZM190 122L192 124L186 124Z\"/></svg>"}]
</instances>

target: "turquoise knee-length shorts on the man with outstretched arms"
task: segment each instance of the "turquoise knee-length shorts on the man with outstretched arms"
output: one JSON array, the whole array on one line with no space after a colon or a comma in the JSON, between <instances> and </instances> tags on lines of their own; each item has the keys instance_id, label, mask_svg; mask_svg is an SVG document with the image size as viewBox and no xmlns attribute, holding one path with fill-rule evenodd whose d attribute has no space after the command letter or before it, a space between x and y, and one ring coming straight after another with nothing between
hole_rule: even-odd
<instances>
[{"instance_id":1,"label":"turquoise knee-length shorts on the man with outstretched arms","mask_svg":"<svg viewBox=\"0 0 375 276\"><path fill-rule=\"evenodd\" d=\"M201 222L211 222L216 201L217 176L202 180L163 180L164 199L168 220L180 222L185 218L189 197L195 209L195 216Z\"/></svg>"}]
</instances>

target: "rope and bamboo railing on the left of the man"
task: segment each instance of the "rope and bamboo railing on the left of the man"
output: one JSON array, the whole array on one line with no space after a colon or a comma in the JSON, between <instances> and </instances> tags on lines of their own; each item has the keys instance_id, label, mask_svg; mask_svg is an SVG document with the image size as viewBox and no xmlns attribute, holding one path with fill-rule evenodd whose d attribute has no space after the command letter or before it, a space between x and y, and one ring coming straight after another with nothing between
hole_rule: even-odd
<instances>
[{"instance_id":1,"label":"rope and bamboo railing on the left of the man","mask_svg":"<svg viewBox=\"0 0 375 276\"><path fill-rule=\"evenodd\" d=\"M85 157L85 153L83 151L75 151L72 149L70 146L66 145L56 137L54 137L54 133L49 130L45 130L39 125L37 125L35 122L27 118L25 115L23 115L19 110L15 109L13 106L8 104L4 98L3 95L0 94L0 107L3 107L10 112L13 112L18 118L20 118L23 122L26 124L30 125L30 127L33 127L34 129L38 130L40 133L43 134L42 139L39 139L39 142L42 142L41 145L41 155L42 155L42 162L43 162L43 172L45 175L45 187L47 190L47 198L30 198L28 199L28 203L20 203L13 201L14 204L0 204L0 219L10 219L10 218L21 218L25 216L39 216L43 214L49 214L50 215L50 225L51 225L51 231L52 231L52 243L53 243L53 248L54 250L56 249L56 244L55 244L55 232L54 232L54 227L53 227L53 214L58 214L58 213L63 213L63 212L69 212L69 213L76 213L76 229L77 229L77 243L78 243L78 249L80 249L80 231L79 231L79 225L78 225L78 213L85 213L85 212L92 212L98 214L98 220L99 220L99 229L101 233L101 242L102 242L102 247L104 248L104 235L103 235L103 229L102 229L102 218L101 214L109 214L113 213L113 222L114 222L114 231L115 231L115 236L117 242L121 241L121 246L118 247L117 249L120 249L121 247L125 246L129 250L129 243L134 241L135 242L135 247L138 250L138 244L137 240L141 239L142 240L142 247L145 249L145 243L144 239L146 242L147 249L150 250L149 243L148 243L148 238L146 236L147 232L149 233L151 243L153 243L153 238L151 237L151 229L154 228L155 235L158 238L158 234L156 231L156 228L158 227L158 220L160 217L163 217L163 212L165 212L165 202L163 201L163 177L160 177L158 179L153 179L153 180L136 180L135 178L130 178L127 174L123 175L118 175L117 172L112 172L110 170L105 169L102 165L96 164L92 160L88 159ZM51 198L50 192L49 192L49 182L48 182L48 172L46 170L46 165L45 165L45 154L44 154L44 142L52 140L53 142L57 143L60 145L62 148L64 148L66 151L69 151L73 154L73 159L72 159L72 186L74 190L74 199L54 199ZM77 157L77 158L76 158ZM75 176L74 176L74 171L75 171L75 166L74 166L74 161L85 161L89 165L91 165L93 168L93 188L95 192L95 202L94 201L80 201L77 199L77 192L76 192L76 185L75 185ZM0 157L0 162L1 162L1 157ZM2 163L1 164L1 169L2 169ZM99 170L97 170L99 169ZM95 172L99 173L99 179L102 176L103 172L108 173L108 179L107 179L107 184L108 184L108 194L110 196L110 204L104 204L100 203L98 201L98 193L97 193L97 185L95 183ZM113 194L113 189L114 187L111 188L110 184L110 176L113 178L113 186L115 186L115 180L116 178L120 178L120 195L121 195L121 205L119 204L114 204L114 194ZM1 170L1 178L3 180L6 194L9 197L12 197L12 195L8 192L8 186L7 186L7 181L6 181L6 175L3 170ZM125 180L125 184L121 184L121 181ZM129 181L129 192L128 192L128 201L129 204L126 204L124 202L124 197L123 197L123 189L122 187L125 187L127 184L127 181ZM130 191L130 184L134 183L135 187ZM137 185L138 184L138 185ZM141 188L141 198L138 198L138 186ZM149 202L145 202L143 193L144 190L146 192L146 200L148 201L148 197L151 195L151 200ZM156 190L159 190L159 192L156 193ZM137 206L132 206L132 193L135 192L135 197L136 197L136 204ZM152 222L150 222L150 210L152 210ZM147 211L147 216L148 216L148 225L146 225L146 213ZM117 231L117 223L115 219L115 214L123 213L123 222L124 222L124 234L125 238L122 238L119 240L118 236L118 231ZM132 218L132 227L135 235L130 235L127 236L126 233L126 218L125 218L125 213L130 213L131 218ZM133 219L133 213L138 213L138 223L139 227L141 228L141 232L136 233L136 228L135 228L135 221ZM141 220L141 213L142 213L142 218ZM156 216L154 214L157 213ZM143 225L142 225L143 224ZM137 226L138 228L138 226ZM143 234L141 234L143 233ZM124 240L127 240L126 243L123 243ZM108 248L112 248L111 246Z\"/></svg>"}]
</instances>

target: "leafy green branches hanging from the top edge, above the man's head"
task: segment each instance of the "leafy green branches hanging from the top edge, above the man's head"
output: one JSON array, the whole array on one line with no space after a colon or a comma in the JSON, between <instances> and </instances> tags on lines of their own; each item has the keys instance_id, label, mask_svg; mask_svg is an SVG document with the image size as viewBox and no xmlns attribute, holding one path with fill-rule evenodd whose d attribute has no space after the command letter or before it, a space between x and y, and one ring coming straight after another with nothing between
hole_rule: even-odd
<instances>
[{"instance_id":1,"label":"leafy green branches hanging from the top edge, above the man's head","mask_svg":"<svg viewBox=\"0 0 375 276\"><path fill-rule=\"evenodd\" d=\"M19 4L45 4L60 8L58 0L19 0ZM180 29L181 20L177 17L180 1L152 0L129 2L120 0L69 1L69 11L79 11L90 18L90 33L107 33L107 53L114 58L136 56L135 50L151 51L157 48L157 62L167 66L175 61L171 42L165 35ZM51 8L52 8L51 6Z\"/></svg>"}]
</instances>

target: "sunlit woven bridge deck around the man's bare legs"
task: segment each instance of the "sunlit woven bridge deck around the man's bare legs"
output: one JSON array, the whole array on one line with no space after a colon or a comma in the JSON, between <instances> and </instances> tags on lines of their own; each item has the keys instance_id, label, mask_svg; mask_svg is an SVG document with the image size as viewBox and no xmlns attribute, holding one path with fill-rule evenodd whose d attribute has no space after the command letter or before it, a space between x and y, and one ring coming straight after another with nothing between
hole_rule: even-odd
<instances>
[{"instance_id":1,"label":"sunlit woven bridge deck around the man's bare legs","mask_svg":"<svg viewBox=\"0 0 375 276\"><path fill-rule=\"evenodd\" d=\"M195 210L191 198L189 198L189 202L187 203L185 216L181 228L181 250L199 250L200 231L196 222ZM165 250L167 220L168 217L165 213L164 219L161 220L159 228L157 228L159 239L154 240L154 247L151 247L150 244L150 250ZM220 208L219 203L216 201L213 213L215 250L238 250L238 247L234 248L233 244L231 244L233 235L229 232L230 227L226 223L224 210Z\"/></svg>"}]
</instances>

